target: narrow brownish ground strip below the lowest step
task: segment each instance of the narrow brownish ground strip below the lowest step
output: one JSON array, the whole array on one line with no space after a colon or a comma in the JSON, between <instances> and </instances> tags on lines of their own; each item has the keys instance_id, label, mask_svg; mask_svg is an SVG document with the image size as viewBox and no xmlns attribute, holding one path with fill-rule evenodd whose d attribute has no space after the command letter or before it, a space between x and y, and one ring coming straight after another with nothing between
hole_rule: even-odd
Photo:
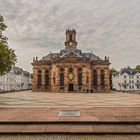
<instances>
[{"instance_id":1,"label":"narrow brownish ground strip below the lowest step","mask_svg":"<svg viewBox=\"0 0 140 140\"><path fill-rule=\"evenodd\" d=\"M140 135L22 135L0 136L0 140L140 140Z\"/></svg>"}]
</instances>

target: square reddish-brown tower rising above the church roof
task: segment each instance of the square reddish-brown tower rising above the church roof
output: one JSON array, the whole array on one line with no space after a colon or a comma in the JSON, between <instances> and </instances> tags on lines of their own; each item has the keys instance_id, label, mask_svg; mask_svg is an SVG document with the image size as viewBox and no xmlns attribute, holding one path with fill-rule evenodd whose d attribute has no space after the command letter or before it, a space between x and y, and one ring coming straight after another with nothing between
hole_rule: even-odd
<instances>
[{"instance_id":1,"label":"square reddish-brown tower rising above the church roof","mask_svg":"<svg viewBox=\"0 0 140 140\"><path fill-rule=\"evenodd\" d=\"M65 48L77 48L76 42L76 30L75 29L67 29L66 30L66 42Z\"/></svg>"}]
</instances>

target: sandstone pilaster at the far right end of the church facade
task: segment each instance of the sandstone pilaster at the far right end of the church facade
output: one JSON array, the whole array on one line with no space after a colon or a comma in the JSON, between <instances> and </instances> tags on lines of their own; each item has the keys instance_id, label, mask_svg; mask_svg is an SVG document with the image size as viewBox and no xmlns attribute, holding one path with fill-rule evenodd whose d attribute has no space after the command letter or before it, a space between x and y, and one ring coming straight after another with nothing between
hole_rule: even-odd
<instances>
[{"instance_id":1,"label":"sandstone pilaster at the far right end of the church facade","mask_svg":"<svg viewBox=\"0 0 140 140\"><path fill-rule=\"evenodd\" d=\"M110 77L109 77L109 67L105 69L104 71L104 78L105 78L105 92L110 92Z\"/></svg>"}]
</instances>

